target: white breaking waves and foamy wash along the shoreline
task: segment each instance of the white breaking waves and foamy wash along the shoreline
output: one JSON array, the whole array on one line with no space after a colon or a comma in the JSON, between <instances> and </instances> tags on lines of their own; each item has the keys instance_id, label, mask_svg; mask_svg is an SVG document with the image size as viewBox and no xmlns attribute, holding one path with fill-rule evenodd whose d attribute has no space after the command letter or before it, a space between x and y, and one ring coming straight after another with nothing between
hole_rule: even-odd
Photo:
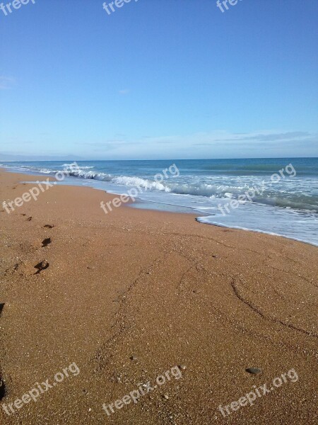
<instances>
[{"instance_id":1,"label":"white breaking waves and foamy wash along the shoreline","mask_svg":"<svg viewBox=\"0 0 318 425\"><path fill-rule=\"evenodd\" d=\"M47 164L45 164L47 165ZM71 164L64 164L70 166ZM197 176L182 175L162 182L153 181L151 176L121 176L93 171L83 166L69 171L61 184L85 184L108 192L124 194L128 188L143 188L138 191L139 199L163 205L162 209L188 210L204 214L198 221L233 229L251 230L283 236L318 246L318 180L285 179L270 188L261 188L263 178L257 176ZM99 167L98 167L99 168ZM106 167L105 167L106 168ZM35 166L19 166L20 171L55 174L57 171ZM104 171L107 171L106 169ZM123 170L124 171L124 170ZM115 174L115 171L114 171ZM78 179L74 179L77 177ZM259 188L254 202L246 200L230 214L223 216L219 206L230 205L232 200L244 195L252 188ZM145 204L143 204L145 205ZM167 207L168 205L168 207ZM136 206L136 204L135 204Z\"/></svg>"}]
</instances>

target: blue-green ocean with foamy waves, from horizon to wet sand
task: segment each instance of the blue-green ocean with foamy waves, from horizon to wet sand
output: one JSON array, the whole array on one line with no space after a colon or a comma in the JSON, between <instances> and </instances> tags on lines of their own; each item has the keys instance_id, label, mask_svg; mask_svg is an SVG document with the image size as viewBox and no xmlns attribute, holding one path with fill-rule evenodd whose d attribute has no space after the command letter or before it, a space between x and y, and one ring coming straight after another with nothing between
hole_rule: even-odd
<instances>
[{"instance_id":1,"label":"blue-green ocean with foamy waves, from horizon to wet sand","mask_svg":"<svg viewBox=\"0 0 318 425\"><path fill-rule=\"evenodd\" d=\"M55 174L71 162L3 162ZM78 161L59 184L131 192L132 208L193 212L207 225L278 234L318 246L318 158ZM100 205L92 205L100 208Z\"/></svg>"}]
</instances>

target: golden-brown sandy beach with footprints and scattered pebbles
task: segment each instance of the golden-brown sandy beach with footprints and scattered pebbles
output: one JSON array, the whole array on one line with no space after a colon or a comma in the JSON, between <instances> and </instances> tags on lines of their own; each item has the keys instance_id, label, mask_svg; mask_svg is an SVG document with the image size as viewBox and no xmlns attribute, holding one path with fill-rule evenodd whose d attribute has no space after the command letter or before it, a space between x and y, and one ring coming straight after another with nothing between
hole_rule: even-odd
<instances>
[{"instance_id":1,"label":"golden-brown sandy beach with footprints and scattered pebbles","mask_svg":"<svg viewBox=\"0 0 318 425\"><path fill-rule=\"evenodd\" d=\"M39 179L0 169L1 203ZM317 247L112 198L1 210L1 424L317 424Z\"/></svg>"}]
</instances>

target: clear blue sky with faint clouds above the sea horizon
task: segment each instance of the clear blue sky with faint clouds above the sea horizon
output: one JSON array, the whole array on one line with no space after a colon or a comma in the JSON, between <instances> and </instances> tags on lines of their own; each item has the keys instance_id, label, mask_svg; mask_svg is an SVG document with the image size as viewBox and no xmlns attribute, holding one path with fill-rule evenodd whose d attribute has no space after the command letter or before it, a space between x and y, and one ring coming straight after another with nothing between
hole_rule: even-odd
<instances>
[{"instance_id":1,"label":"clear blue sky with faint clouds above the sea horizon","mask_svg":"<svg viewBox=\"0 0 318 425\"><path fill-rule=\"evenodd\" d=\"M318 157L318 1L8 3L0 161Z\"/></svg>"}]
</instances>

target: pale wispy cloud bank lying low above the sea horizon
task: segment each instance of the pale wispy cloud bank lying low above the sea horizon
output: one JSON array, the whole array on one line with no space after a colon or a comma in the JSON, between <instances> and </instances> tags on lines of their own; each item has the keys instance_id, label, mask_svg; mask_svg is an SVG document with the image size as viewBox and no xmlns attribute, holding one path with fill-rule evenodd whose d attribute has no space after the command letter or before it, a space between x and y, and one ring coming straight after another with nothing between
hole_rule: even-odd
<instances>
[{"instance_id":1,"label":"pale wispy cloud bank lying low above the sea horizon","mask_svg":"<svg viewBox=\"0 0 318 425\"><path fill-rule=\"evenodd\" d=\"M20 146L18 141L14 143L17 154L24 151L25 140L20 140ZM30 144L31 152L36 152L34 146ZM146 133L141 137L117 132L105 139L80 140L72 144L71 149L90 159L278 158L317 157L317 146L317 132L276 129L247 133L215 130L161 136ZM52 152L47 153L52 155Z\"/></svg>"}]
</instances>

